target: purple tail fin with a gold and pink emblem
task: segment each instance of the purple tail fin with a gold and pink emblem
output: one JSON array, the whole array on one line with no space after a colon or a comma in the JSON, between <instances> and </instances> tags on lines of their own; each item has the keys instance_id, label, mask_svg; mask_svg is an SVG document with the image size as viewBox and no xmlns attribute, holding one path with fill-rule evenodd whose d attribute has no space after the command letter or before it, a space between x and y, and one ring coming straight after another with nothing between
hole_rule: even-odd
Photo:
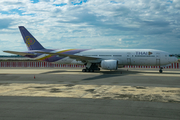
<instances>
[{"instance_id":1,"label":"purple tail fin with a gold and pink emblem","mask_svg":"<svg viewBox=\"0 0 180 120\"><path fill-rule=\"evenodd\" d=\"M24 26L19 26L21 35L24 42L27 45L28 50L42 50L44 47L29 33L29 31Z\"/></svg>"}]
</instances>

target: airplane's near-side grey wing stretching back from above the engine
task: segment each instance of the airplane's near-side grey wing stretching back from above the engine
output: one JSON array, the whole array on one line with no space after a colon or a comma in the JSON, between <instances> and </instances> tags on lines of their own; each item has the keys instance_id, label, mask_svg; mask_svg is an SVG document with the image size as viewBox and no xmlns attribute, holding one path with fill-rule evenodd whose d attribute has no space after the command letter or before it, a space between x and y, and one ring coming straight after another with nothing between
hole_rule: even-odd
<instances>
[{"instance_id":1,"label":"airplane's near-side grey wing stretching back from above the engine","mask_svg":"<svg viewBox=\"0 0 180 120\"><path fill-rule=\"evenodd\" d=\"M87 60L98 60L100 58L95 58L95 57L87 57L87 56L80 56L80 55L69 55L69 54L61 54L61 53L51 53L51 52L39 52L37 53L42 53L42 54L50 54L50 55L59 55L63 57L69 57L72 59L80 60L80 61L87 61Z\"/></svg>"}]
</instances>

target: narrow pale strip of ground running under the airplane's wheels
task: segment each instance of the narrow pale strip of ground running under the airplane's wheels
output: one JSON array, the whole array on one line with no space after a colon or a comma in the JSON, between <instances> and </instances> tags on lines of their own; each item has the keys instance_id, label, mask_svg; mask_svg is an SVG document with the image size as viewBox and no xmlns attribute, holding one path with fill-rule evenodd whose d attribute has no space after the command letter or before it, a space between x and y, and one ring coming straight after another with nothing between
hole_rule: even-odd
<instances>
[{"instance_id":1,"label":"narrow pale strip of ground running under the airplane's wheels","mask_svg":"<svg viewBox=\"0 0 180 120\"><path fill-rule=\"evenodd\" d=\"M118 71L102 70L100 72L81 72L80 69L0 69L0 74L93 74L93 75L126 75L126 76L165 76L180 77L180 71L164 71L159 73L152 70Z\"/></svg>"}]
</instances>

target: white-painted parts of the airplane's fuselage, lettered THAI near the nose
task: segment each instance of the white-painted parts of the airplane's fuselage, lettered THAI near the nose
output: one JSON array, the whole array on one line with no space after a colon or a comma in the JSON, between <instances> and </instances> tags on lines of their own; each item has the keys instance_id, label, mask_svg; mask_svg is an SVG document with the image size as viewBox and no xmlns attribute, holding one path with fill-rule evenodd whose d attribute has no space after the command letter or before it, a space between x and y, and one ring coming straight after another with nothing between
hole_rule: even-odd
<instances>
[{"instance_id":1,"label":"white-painted parts of the airplane's fuselage, lettered THAI near the nose","mask_svg":"<svg viewBox=\"0 0 180 120\"><path fill-rule=\"evenodd\" d=\"M91 49L75 55L101 58L101 60L117 60L118 65L164 66L177 61L177 58L169 56L168 52L155 49ZM101 61L89 60L89 62L100 63ZM84 64L69 57L56 63Z\"/></svg>"}]
</instances>

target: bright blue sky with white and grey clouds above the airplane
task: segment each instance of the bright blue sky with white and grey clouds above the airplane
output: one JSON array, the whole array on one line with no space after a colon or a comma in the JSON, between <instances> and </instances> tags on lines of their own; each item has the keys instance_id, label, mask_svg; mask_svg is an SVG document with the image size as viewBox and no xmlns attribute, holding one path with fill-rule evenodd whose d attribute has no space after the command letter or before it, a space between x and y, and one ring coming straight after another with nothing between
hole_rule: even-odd
<instances>
[{"instance_id":1,"label":"bright blue sky with white and grey clouds above the airplane","mask_svg":"<svg viewBox=\"0 0 180 120\"><path fill-rule=\"evenodd\" d=\"M27 51L18 26L49 49L180 54L180 0L0 0L0 55Z\"/></svg>"}]
</instances>

